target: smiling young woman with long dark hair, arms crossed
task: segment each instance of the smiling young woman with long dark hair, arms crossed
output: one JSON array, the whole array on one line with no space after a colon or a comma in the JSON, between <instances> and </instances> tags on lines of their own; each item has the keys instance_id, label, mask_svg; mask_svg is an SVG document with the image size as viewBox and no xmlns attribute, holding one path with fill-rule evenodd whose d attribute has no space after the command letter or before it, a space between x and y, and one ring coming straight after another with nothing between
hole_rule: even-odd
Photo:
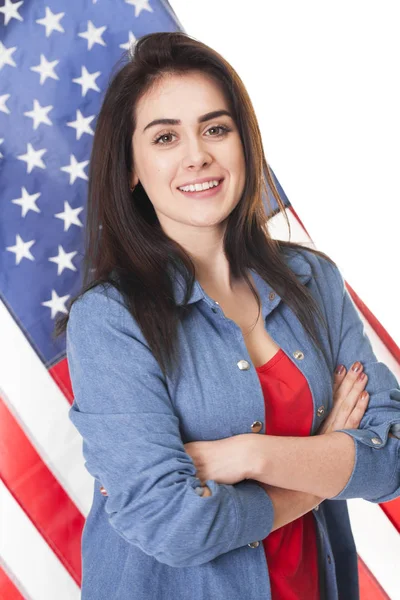
<instances>
[{"instance_id":1,"label":"smiling young woman with long dark hair, arms crossed","mask_svg":"<svg viewBox=\"0 0 400 600\"><path fill-rule=\"evenodd\" d=\"M335 263L271 238L265 180L284 211L233 68L139 39L57 330L95 479L83 600L358 598L346 499L400 495L400 390Z\"/></svg>"}]
</instances>

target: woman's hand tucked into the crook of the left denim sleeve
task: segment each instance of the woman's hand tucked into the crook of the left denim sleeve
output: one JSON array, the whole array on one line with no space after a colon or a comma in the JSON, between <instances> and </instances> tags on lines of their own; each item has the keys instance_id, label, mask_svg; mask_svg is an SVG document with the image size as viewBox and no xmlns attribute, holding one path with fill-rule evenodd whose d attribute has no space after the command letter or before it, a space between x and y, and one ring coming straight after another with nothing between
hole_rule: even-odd
<instances>
[{"instance_id":1,"label":"woman's hand tucked into the crook of the left denim sleeve","mask_svg":"<svg viewBox=\"0 0 400 600\"><path fill-rule=\"evenodd\" d=\"M254 460L251 456L251 438L255 433L234 435L212 442L189 442L184 445L191 456L197 477L204 484L208 479L233 485L247 478L247 470Z\"/></svg>"}]
</instances>

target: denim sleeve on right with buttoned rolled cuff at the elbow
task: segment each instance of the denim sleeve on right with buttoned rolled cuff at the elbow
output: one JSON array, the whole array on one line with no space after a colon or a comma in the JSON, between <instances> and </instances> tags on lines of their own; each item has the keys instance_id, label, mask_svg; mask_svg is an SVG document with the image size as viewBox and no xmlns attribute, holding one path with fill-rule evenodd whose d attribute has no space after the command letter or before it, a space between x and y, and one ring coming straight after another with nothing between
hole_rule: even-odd
<instances>
[{"instance_id":1,"label":"denim sleeve on right with buttoned rolled cuff at the elbow","mask_svg":"<svg viewBox=\"0 0 400 600\"><path fill-rule=\"evenodd\" d=\"M378 361L357 308L345 288L343 276L326 261L333 271L332 294L341 306L338 325L338 351L335 364L347 370L360 361L368 376L368 408L358 429L341 429L355 443L353 472L344 489L331 500L363 498L371 502L387 502L400 496L400 389L390 369ZM390 435L389 435L390 434Z\"/></svg>"}]
</instances>

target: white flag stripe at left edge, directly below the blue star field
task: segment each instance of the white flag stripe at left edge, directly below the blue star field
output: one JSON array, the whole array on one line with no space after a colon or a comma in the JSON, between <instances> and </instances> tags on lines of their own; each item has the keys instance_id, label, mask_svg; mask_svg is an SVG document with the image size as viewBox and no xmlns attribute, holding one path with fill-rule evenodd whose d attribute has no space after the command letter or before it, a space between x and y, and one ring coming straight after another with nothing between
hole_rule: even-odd
<instances>
[{"instance_id":1,"label":"white flag stripe at left edge, directly below the blue star field","mask_svg":"<svg viewBox=\"0 0 400 600\"><path fill-rule=\"evenodd\" d=\"M1 301L0 331L0 394L86 516L93 478L84 467L82 439L68 418L69 403Z\"/></svg>"}]
</instances>

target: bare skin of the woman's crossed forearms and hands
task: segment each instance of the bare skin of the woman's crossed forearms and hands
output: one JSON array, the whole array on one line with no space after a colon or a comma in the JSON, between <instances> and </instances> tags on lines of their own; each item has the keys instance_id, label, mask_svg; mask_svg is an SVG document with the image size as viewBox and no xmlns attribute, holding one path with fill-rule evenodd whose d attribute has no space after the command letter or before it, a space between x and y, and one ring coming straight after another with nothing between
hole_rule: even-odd
<instances>
[{"instance_id":1,"label":"bare skin of the woman's crossed forearms and hands","mask_svg":"<svg viewBox=\"0 0 400 600\"><path fill-rule=\"evenodd\" d=\"M203 481L258 481L272 500L273 529L278 529L345 487L354 468L355 443L334 429L358 427L367 407L367 401L359 400L364 386L365 382L359 382L353 371L335 374L335 404L324 423L323 435L244 434L211 443L189 443L185 449ZM210 495L205 486L203 497Z\"/></svg>"}]
</instances>

